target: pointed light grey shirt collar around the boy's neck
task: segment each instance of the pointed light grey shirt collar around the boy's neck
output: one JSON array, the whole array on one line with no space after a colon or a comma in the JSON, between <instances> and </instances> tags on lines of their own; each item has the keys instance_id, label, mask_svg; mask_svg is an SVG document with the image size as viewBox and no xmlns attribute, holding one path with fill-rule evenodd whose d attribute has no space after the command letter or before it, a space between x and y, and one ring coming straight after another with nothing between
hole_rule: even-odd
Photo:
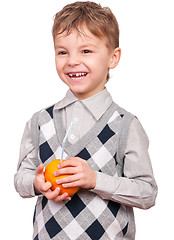
<instances>
[{"instance_id":1,"label":"pointed light grey shirt collar around the boy's neck","mask_svg":"<svg viewBox=\"0 0 174 240\"><path fill-rule=\"evenodd\" d=\"M65 108L77 101L80 101L88 111L91 112L96 120L99 120L113 102L112 97L106 88L96 95L84 100L79 100L71 90L68 90L65 97L56 104L55 109Z\"/></svg>"}]
</instances>

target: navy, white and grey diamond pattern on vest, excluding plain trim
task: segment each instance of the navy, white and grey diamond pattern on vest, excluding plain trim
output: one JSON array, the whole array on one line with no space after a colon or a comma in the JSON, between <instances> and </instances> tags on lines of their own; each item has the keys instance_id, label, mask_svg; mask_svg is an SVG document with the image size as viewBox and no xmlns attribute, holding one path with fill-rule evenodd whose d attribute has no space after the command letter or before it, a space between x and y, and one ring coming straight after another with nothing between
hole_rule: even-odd
<instances>
[{"instance_id":1,"label":"navy, white and grey diamond pattern on vest, excluding plain trim","mask_svg":"<svg viewBox=\"0 0 174 240\"><path fill-rule=\"evenodd\" d=\"M54 106L43 110L38 120L39 155L46 166L61 157L61 143L53 118ZM74 156L88 161L90 167L110 176L122 176L117 162L121 116L114 111L101 131L86 142ZM80 143L79 143L80 144ZM72 153L72 152L71 152ZM64 158L69 156L65 147ZM128 207L102 199L92 191L80 189L71 201L55 203L44 196L38 197L34 213L34 240L106 240L127 239L130 216Z\"/></svg>"}]
</instances>

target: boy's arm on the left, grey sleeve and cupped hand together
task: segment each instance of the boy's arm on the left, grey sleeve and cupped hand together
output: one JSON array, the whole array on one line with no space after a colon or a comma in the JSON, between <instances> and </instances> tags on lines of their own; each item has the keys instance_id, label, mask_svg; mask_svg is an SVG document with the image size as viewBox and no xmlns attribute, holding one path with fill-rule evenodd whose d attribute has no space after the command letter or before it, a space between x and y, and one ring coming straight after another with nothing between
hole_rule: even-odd
<instances>
[{"instance_id":1,"label":"boy's arm on the left, grey sleeve and cupped hand together","mask_svg":"<svg viewBox=\"0 0 174 240\"><path fill-rule=\"evenodd\" d=\"M51 183L45 182L44 165L39 164L37 151L31 137L31 121L29 121L24 130L17 173L14 177L16 191L23 198L43 194L46 198L55 202L70 200L71 198L67 193L59 195L59 188L54 191L50 189Z\"/></svg>"}]
</instances>

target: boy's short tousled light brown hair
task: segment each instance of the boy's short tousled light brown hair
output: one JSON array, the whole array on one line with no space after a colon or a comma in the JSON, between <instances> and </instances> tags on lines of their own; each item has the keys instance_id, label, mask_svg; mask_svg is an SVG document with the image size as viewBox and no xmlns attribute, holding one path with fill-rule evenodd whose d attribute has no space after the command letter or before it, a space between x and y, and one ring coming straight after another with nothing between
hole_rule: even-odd
<instances>
[{"instance_id":1,"label":"boy's short tousled light brown hair","mask_svg":"<svg viewBox=\"0 0 174 240\"><path fill-rule=\"evenodd\" d=\"M70 34L72 29L81 32L86 26L96 37L104 39L109 50L119 47L119 26L116 17L109 7L86 1L66 5L54 18L53 39L59 34ZM109 72L106 78L110 78Z\"/></svg>"}]
</instances>

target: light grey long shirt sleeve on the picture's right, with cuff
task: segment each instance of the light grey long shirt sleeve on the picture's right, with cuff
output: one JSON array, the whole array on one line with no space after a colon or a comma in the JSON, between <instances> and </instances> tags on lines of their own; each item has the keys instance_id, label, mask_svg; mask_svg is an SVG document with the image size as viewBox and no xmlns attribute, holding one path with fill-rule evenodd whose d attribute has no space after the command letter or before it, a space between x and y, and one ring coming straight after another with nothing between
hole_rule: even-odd
<instances>
[{"instance_id":1,"label":"light grey long shirt sleeve on the picture's right, with cuff","mask_svg":"<svg viewBox=\"0 0 174 240\"><path fill-rule=\"evenodd\" d=\"M124 158L124 177L97 172L93 192L104 199L148 209L155 204L157 185L148 154L148 138L135 118L130 126Z\"/></svg>"}]
</instances>

